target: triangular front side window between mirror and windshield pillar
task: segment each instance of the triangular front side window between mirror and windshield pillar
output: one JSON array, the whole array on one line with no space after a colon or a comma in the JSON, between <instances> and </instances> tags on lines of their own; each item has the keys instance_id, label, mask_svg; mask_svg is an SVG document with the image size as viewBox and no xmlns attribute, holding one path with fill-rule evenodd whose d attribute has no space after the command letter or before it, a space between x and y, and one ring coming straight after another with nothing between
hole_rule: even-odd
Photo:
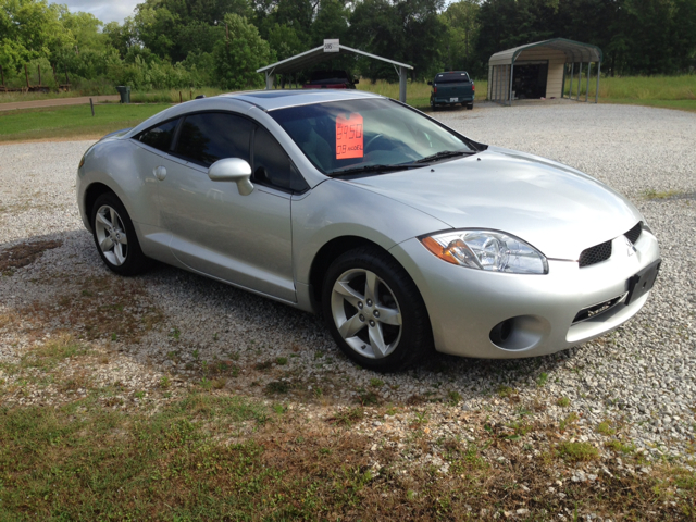
<instances>
[{"instance_id":1,"label":"triangular front side window between mirror and windshield pillar","mask_svg":"<svg viewBox=\"0 0 696 522\"><path fill-rule=\"evenodd\" d=\"M257 127L253 135L252 181L294 192L303 192L309 188L283 147L262 127Z\"/></svg>"}]
</instances>

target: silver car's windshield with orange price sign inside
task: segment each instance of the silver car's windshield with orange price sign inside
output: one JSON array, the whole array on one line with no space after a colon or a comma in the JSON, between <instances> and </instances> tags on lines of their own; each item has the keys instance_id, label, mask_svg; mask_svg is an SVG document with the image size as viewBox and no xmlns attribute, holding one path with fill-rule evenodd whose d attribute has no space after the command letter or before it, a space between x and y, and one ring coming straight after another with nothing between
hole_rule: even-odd
<instances>
[{"instance_id":1,"label":"silver car's windshield with orange price sign inside","mask_svg":"<svg viewBox=\"0 0 696 522\"><path fill-rule=\"evenodd\" d=\"M385 99L315 103L270 114L314 166L330 175L371 165L406 169L436 154L447 158L443 152L473 152L463 138Z\"/></svg>"}]
</instances>

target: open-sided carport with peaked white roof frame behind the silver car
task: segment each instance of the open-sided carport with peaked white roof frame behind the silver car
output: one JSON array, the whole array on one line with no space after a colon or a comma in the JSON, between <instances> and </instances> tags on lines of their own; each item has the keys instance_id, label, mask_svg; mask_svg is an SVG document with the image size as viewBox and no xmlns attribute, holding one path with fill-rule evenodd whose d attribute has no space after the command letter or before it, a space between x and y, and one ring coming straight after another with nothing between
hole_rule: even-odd
<instances>
[{"instance_id":1,"label":"open-sided carport with peaked white roof frame behind the silver car","mask_svg":"<svg viewBox=\"0 0 696 522\"><path fill-rule=\"evenodd\" d=\"M341 52L352 52L355 54L360 54L362 57L372 58L373 60L380 60L391 64L396 73L399 75L399 101L406 103L407 70L413 69L412 65L370 54L369 52L359 51L358 49L352 49L348 46L343 46L338 40L324 40L323 46L310 49L309 51L304 51L279 62L272 63L265 67L258 69L257 73L265 73L265 88L272 89L276 74L291 75L293 73L297 73L325 60L331 60L336 53Z\"/></svg>"}]
</instances>

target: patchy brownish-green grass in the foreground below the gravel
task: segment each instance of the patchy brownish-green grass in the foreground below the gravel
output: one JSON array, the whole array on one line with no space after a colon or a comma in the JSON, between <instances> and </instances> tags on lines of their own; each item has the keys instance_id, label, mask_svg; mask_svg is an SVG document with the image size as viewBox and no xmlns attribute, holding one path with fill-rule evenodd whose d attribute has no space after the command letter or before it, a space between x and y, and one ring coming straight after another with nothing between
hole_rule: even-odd
<instances>
[{"instance_id":1,"label":"patchy brownish-green grass in the foreground below the gravel","mask_svg":"<svg viewBox=\"0 0 696 522\"><path fill-rule=\"evenodd\" d=\"M596 460L599 450L562 442L521 458L518 439L537 430L531 424L512 423L507 437L478 432L475 443L447 438L437 444L449 471L419 465L405 473L400 453L432 448L417 436L398 439L401 449L388 439L375 444L355 428L373 414L362 407L310 422L279 403L224 395L214 384L201 386L208 391L175 388L163 377L147 393L133 390L142 406L122 409L105 399L113 386L127 395L124 385L74 382L57 365L67 358L89 371L94 353L64 336L15 363L16 372L50 375L60 389L86 394L58 407L0 406L0 520L506 520L521 507L529 510L523 520L696 514L696 475L667 464L650 475L620 475L607 462L613 474L601 487L567 481L563 496L549 494L559 467ZM0 382L0 397L4 389ZM148 407L147 397L164 389L179 391ZM421 412L411 420L414 434L430 421ZM510 464L492 461L489 448Z\"/></svg>"}]
</instances>

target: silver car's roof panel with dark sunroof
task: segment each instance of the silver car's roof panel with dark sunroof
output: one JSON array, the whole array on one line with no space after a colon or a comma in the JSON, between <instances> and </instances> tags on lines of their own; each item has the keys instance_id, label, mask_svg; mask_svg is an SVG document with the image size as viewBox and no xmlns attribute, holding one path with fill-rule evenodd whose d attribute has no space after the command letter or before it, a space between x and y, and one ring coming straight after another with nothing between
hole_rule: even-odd
<instances>
[{"instance_id":1,"label":"silver car's roof panel with dark sunroof","mask_svg":"<svg viewBox=\"0 0 696 522\"><path fill-rule=\"evenodd\" d=\"M264 111L274 111L276 109L308 105L310 103L384 97L353 89L274 89L232 92L221 95L217 98L246 101Z\"/></svg>"}]
</instances>

